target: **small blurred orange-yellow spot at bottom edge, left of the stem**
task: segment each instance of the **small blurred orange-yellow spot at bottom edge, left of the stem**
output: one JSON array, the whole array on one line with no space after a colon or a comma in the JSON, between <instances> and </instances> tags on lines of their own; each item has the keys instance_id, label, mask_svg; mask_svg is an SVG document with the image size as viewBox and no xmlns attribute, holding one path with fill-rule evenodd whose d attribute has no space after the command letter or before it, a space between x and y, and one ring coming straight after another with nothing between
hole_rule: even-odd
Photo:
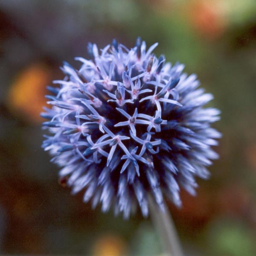
<instances>
[{"instance_id":1,"label":"small blurred orange-yellow spot at bottom edge, left of the stem","mask_svg":"<svg viewBox=\"0 0 256 256\"><path fill-rule=\"evenodd\" d=\"M113 235L101 237L93 246L93 256L124 256L125 251L125 242Z\"/></svg>"}]
</instances>

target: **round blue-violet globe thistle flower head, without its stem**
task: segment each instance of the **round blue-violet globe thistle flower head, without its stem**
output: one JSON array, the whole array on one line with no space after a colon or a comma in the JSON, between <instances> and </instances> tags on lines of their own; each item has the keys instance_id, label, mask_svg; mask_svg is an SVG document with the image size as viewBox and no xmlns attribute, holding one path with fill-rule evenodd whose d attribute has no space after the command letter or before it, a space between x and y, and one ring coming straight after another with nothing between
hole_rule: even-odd
<instances>
[{"instance_id":1,"label":"round blue-violet globe thistle flower head, without its stem","mask_svg":"<svg viewBox=\"0 0 256 256\"><path fill-rule=\"evenodd\" d=\"M89 43L90 60L76 58L77 70L64 62L59 87L48 87L52 108L41 115L42 147L61 166L61 183L84 191L84 202L129 218L137 205L148 215L148 194L164 210L164 196L181 205L180 187L195 195L195 177L208 178L218 158L211 146L221 134L210 125L218 109L203 108L212 94L199 88L184 65L165 63L138 38L126 48L113 40L99 50Z\"/></svg>"}]
</instances>

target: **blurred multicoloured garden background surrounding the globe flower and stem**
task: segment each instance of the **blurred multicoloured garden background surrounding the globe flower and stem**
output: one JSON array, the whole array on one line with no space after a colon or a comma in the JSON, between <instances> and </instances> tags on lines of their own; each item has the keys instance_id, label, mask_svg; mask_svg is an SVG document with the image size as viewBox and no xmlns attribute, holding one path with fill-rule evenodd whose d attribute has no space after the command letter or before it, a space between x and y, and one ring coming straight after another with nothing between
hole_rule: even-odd
<instances>
[{"instance_id":1,"label":"blurred multicoloured garden background surrounding the globe flower and stem","mask_svg":"<svg viewBox=\"0 0 256 256\"><path fill-rule=\"evenodd\" d=\"M162 254L138 212L129 221L91 210L58 184L41 149L46 85L66 60L137 36L197 73L221 109L221 155L198 196L169 204L186 255L256 255L255 0L0 0L0 254Z\"/></svg>"}]
</instances>

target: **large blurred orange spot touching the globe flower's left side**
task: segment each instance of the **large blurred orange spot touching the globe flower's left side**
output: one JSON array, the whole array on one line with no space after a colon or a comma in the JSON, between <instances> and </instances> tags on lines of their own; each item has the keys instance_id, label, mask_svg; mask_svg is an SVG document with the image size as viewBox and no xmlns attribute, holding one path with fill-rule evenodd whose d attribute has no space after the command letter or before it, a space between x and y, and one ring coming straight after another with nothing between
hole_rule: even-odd
<instances>
[{"instance_id":1,"label":"large blurred orange spot touching the globe flower's left side","mask_svg":"<svg viewBox=\"0 0 256 256\"><path fill-rule=\"evenodd\" d=\"M9 91L9 108L29 122L44 120L39 115L46 105L46 86L51 82L50 71L43 64L33 64L12 83Z\"/></svg>"}]
</instances>

